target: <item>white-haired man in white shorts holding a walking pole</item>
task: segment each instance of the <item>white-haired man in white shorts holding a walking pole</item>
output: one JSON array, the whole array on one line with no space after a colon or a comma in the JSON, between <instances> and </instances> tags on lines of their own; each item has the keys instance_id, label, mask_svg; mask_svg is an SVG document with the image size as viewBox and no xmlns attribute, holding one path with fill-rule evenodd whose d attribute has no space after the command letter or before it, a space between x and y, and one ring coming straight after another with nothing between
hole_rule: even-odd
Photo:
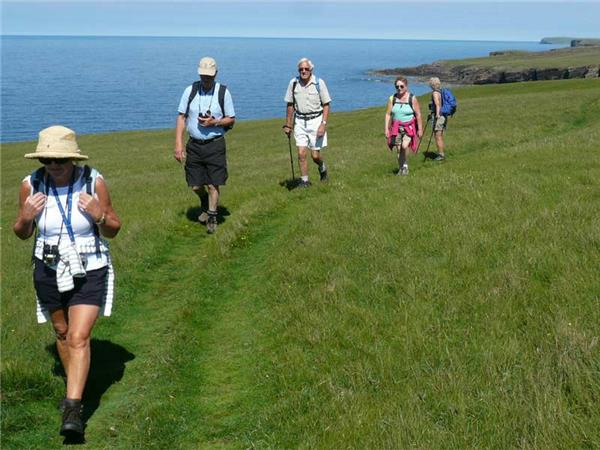
<instances>
[{"instance_id":1,"label":"white-haired man in white shorts holding a walking pole","mask_svg":"<svg viewBox=\"0 0 600 450\"><path fill-rule=\"evenodd\" d=\"M306 160L309 149L313 161L319 167L319 178L327 181L327 166L321 150L327 146L327 118L331 97L325 81L315 77L313 69L314 65L309 59L302 58L298 61L299 75L290 80L284 98L287 111L283 132L289 137L294 131L301 174L299 187L310 186Z\"/></svg>"}]
</instances>

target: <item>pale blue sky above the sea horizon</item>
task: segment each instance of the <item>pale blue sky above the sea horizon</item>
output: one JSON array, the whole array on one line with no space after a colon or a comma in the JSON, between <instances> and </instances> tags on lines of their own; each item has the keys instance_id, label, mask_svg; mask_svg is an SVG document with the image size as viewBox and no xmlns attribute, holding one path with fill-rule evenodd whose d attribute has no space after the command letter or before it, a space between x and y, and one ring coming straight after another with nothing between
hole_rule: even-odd
<instances>
[{"instance_id":1,"label":"pale blue sky above the sea horizon","mask_svg":"<svg viewBox=\"0 0 600 450\"><path fill-rule=\"evenodd\" d=\"M2 34L537 41L600 37L600 2L3 0Z\"/></svg>"}]
</instances>

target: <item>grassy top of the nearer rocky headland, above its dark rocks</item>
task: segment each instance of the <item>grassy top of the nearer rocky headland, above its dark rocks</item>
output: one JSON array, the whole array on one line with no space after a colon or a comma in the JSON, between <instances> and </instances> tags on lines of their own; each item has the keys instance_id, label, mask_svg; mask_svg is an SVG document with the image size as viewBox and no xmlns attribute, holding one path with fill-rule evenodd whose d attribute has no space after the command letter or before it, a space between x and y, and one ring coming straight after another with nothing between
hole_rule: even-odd
<instances>
[{"instance_id":1,"label":"grassy top of the nearer rocky headland, above its dark rocks","mask_svg":"<svg viewBox=\"0 0 600 450\"><path fill-rule=\"evenodd\" d=\"M515 70L536 69L568 69L570 67L587 67L600 63L600 46L563 48L543 52L507 51L504 55L483 58L466 58L444 60L441 63L449 66L505 67Z\"/></svg>"}]
</instances>

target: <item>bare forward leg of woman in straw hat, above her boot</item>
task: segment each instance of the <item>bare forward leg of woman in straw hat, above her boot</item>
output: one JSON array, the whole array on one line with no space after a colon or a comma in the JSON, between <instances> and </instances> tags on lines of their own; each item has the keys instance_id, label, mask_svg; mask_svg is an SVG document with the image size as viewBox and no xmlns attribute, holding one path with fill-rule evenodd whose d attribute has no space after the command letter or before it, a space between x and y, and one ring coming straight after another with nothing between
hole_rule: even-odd
<instances>
[{"instance_id":1,"label":"bare forward leg of woman in straw hat, above her boot","mask_svg":"<svg viewBox=\"0 0 600 450\"><path fill-rule=\"evenodd\" d=\"M67 399L81 400L90 370L90 336L99 310L95 305L69 307Z\"/></svg>"}]
</instances>

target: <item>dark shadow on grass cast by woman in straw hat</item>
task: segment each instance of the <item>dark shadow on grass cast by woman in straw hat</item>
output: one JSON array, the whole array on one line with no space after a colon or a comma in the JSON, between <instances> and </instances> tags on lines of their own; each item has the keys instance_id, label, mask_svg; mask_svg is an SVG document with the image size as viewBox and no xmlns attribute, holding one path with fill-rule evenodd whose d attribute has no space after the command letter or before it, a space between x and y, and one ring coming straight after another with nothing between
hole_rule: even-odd
<instances>
[{"instance_id":1,"label":"dark shadow on grass cast by woman in straw hat","mask_svg":"<svg viewBox=\"0 0 600 450\"><path fill-rule=\"evenodd\" d=\"M46 347L46 350L54 357L54 368L52 372L56 376L66 380L65 372L60 362L56 346L54 344ZM85 424L100 406L100 399L113 384L123 378L125 363L135 358L135 355L124 347L104 339L91 340L92 360L90 373L83 391L83 413L82 419ZM83 444L84 436L67 436L64 444Z\"/></svg>"}]
</instances>

